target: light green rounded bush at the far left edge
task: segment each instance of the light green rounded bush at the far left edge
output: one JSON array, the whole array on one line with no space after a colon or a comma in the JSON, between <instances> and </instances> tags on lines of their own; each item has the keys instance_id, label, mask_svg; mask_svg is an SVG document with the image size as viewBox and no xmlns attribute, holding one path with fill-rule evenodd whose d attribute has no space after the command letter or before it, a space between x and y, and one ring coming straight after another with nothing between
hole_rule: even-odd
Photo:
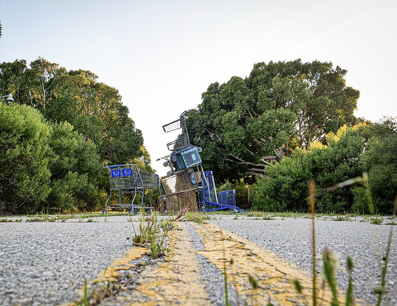
<instances>
[{"instance_id":1,"label":"light green rounded bush at the far left edge","mask_svg":"<svg viewBox=\"0 0 397 306\"><path fill-rule=\"evenodd\" d=\"M0 212L36 212L51 191L50 129L39 111L0 103Z\"/></svg>"}]
</instances>

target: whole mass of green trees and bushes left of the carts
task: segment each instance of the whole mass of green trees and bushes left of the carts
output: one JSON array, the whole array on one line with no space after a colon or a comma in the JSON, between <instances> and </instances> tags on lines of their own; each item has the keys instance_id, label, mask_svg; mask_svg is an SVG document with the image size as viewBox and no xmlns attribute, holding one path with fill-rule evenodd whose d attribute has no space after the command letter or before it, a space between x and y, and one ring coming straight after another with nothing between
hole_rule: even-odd
<instances>
[{"instance_id":1,"label":"whole mass of green trees and bushes left of the carts","mask_svg":"<svg viewBox=\"0 0 397 306\"><path fill-rule=\"evenodd\" d=\"M0 96L9 93L14 102L0 103L0 215L95 210L109 194L103 166L153 171L119 91L93 72L42 57L3 62Z\"/></svg>"}]
</instances>

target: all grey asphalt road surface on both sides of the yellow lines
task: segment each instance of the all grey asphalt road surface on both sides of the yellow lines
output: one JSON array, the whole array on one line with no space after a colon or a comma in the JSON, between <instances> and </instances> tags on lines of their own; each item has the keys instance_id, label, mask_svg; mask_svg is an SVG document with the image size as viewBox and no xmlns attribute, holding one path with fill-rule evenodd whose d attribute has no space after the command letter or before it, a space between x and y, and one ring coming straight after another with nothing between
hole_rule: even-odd
<instances>
[{"instance_id":1,"label":"all grey asphalt road surface on both sides of the yellow lines","mask_svg":"<svg viewBox=\"0 0 397 306\"><path fill-rule=\"evenodd\" d=\"M134 217L137 221L137 216ZM219 218L219 217L218 217ZM126 216L92 218L95 222L12 222L0 223L0 305L60 305L80 297L78 290L84 276L91 280L111 262L132 248L132 224ZM247 217L233 220L223 215L210 221L246 238L300 268L311 270L311 221L304 218L255 220ZM134 223L137 228L138 223ZM188 226L191 240L200 250L202 245ZM320 252L328 246L339 255L337 279L346 288L348 274L345 258L353 258L354 290L368 305L375 304L371 289L380 282L378 252L386 254L390 225L369 222L316 220L318 265ZM197 241L197 242L196 242ZM388 286L390 305L397 305L397 237L394 235L389 258ZM199 256L199 255L198 255ZM211 269L199 256L200 271ZM202 266L208 264L208 269ZM207 272L208 272L207 271ZM211 273L210 273L211 274ZM216 274L215 272L213 274ZM212 275L212 274L211 274ZM209 276L208 276L209 277ZM207 276L202 279L208 279ZM218 281L221 274L213 275ZM208 284L203 284L208 287ZM211 301L220 305L211 292ZM222 291L219 301L222 299ZM385 304L387 305L387 304Z\"/></svg>"}]
</instances>

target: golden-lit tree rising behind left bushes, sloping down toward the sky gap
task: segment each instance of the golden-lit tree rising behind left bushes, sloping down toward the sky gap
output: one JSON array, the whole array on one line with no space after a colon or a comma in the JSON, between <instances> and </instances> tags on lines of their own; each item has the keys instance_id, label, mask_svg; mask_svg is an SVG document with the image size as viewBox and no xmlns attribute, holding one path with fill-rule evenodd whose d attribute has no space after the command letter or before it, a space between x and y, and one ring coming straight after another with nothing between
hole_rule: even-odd
<instances>
[{"instance_id":1,"label":"golden-lit tree rising behind left bushes, sloping down toward the sky gap","mask_svg":"<svg viewBox=\"0 0 397 306\"><path fill-rule=\"evenodd\" d=\"M87 70L70 70L56 84L51 107L43 110L50 120L70 122L92 140L106 164L128 163L140 157L143 137L116 88L97 82Z\"/></svg>"}]
</instances>

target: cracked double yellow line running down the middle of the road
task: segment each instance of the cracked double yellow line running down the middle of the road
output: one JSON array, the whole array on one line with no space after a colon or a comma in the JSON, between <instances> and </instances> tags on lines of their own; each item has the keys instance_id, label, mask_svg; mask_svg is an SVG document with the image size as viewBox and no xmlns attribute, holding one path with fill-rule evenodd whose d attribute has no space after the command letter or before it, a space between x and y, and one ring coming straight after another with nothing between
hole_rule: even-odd
<instances>
[{"instance_id":1,"label":"cracked double yellow line running down the middle of the road","mask_svg":"<svg viewBox=\"0 0 397 306\"><path fill-rule=\"evenodd\" d=\"M199 266L198 255L203 255L221 273L226 262L228 283L236 290L240 305L267 305L268 302L274 306L312 305L312 277L308 272L218 226L189 223L201 238L203 251L194 248L188 225L174 222L176 229L168 234L171 252L164 260L154 260L141 266L139 272L134 274L134 288L131 291L105 299L101 305L211 305L209 293L200 278L200 268L204 267ZM94 282L117 283L119 271L137 268L131 261L146 253L146 248L132 248L125 257L114 260L106 270L101 271ZM249 276L258 281L259 288L252 288ZM293 285L295 279L304 288L302 293L296 292ZM224 288L223 282L213 285ZM318 305L330 305L331 292L325 285L321 287L319 284Z\"/></svg>"}]
</instances>

